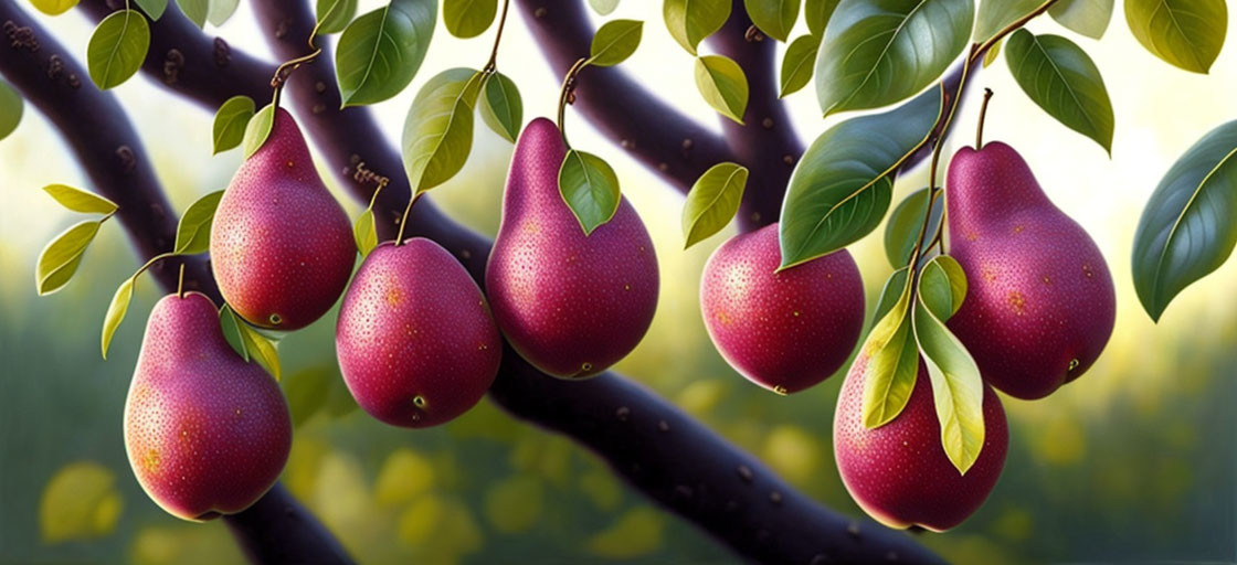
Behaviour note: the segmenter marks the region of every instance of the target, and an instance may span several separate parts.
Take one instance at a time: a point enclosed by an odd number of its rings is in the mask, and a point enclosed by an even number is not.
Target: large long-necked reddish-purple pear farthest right
[[[1082,375],[1112,335],[1103,255],[1006,143],[959,150],[948,187],[949,255],[969,282],[949,328],[988,383],[1043,398]]]

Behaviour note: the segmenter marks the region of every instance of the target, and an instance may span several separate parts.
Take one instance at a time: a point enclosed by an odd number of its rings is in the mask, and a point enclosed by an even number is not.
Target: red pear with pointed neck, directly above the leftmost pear
[[[255,325],[297,330],[335,304],[355,257],[348,214],[314,169],[292,115],[276,109],[270,137],[215,210],[210,265],[219,292]]]

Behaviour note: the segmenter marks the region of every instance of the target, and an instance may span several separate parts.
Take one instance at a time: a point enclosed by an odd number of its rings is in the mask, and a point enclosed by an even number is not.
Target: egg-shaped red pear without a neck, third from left
[[[502,360],[481,289],[438,244],[374,249],[344,294],[335,326],[344,382],[370,415],[426,428],[473,408]]]

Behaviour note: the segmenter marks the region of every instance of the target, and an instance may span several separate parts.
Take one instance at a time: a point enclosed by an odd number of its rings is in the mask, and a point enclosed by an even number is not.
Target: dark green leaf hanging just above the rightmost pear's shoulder
[[[1061,36],[1018,30],[1006,45],[1006,62],[1039,108],[1112,153],[1112,101],[1100,69],[1081,47]]]

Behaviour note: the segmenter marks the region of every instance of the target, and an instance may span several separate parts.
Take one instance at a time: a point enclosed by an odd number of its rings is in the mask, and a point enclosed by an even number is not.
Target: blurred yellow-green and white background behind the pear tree
[[[208,31],[270,58],[247,4]],[[362,0],[361,14],[379,4]],[[84,59],[92,30],[84,16],[37,17]],[[659,5],[628,0],[610,17],[647,22],[640,49],[622,67],[716,127],[717,115],[695,90],[693,59],[666,31]],[[1230,30],[1237,30],[1237,10],[1230,19]],[[518,10],[511,20],[499,68],[518,83],[526,121],[553,115],[560,77],[552,74]],[[799,27],[792,36],[805,32],[802,21]],[[1029,27],[1070,35],[1047,17]],[[413,84],[374,109],[391,140],[398,141],[421,84],[449,67],[482,66],[492,33],[456,40],[439,22]],[[970,142],[980,89],[996,90],[986,138],[1018,148],[1048,195],[1103,250],[1118,292],[1117,328],[1100,361],[1075,383],[1038,402],[1003,397],[1011,448],[995,492],[957,529],[919,539],[957,563],[1233,561],[1237,261],[1186,289],[1157,325],[1134,295],[1129,250],[1142,206],[1169,166],[1207,131],[1237,119],[1237,40],[1230,38],[1210,75],[1197,75],[1143,49],[1121,6],[1102,41],[1071,38],[1096,61],[1112,96],[1111,158],[1023,95],[1003,59],[974,83],[978,88],[956,117],[959,135],[950,148]],[[116,94],[178,210],[228,184],[241,157],[235,150],[210,155],[214,109],[174,98],[142,75]],[[787,103],[805,143],[839,120],[820,120],[810,87]],[[661,261],[653,328],[617,368],[757,454],[807,495],[861,516],[833,461],[841,377],[778,397],[747,383],[709,342],[698,308],[700,270],[734,229],[682,251],[683,198],[583,117],[569,116],[568,127],[575,145],[614,164]],[[464,172],[432,198],[492,235],[510,156],[510,143],[477,126]],[[121,410],[146,314],[161,295],[151,279],[139,282],[106,362],[99,359],[98,336],[113,292],[145,257],[134,255],[118,223],[108,223],[75,279],[38,298],[35,260],[77,221],[40,188],[90,185],[64,141],[30,105],[17,131],[0,141],[0,561],[238,561],[224,524],[192,524],[163,513],[142,493],[125,459]],[[335,188],[330,171],[323,177]],[[927,171],[907,174],[896,198],[925,184]],[[350,215],[360,211],[357,202],[336,194]],[[871,309],[892,271],[880,231],[851,252]],[[328,314],[280,347],[281,386],[297,424],[282,480],[360,563],[735,559],[616,482],[589,452],[512,420],[489,401],[430,430],[395,429],[369,418],[340,381],[330,346],[334,320]]]

